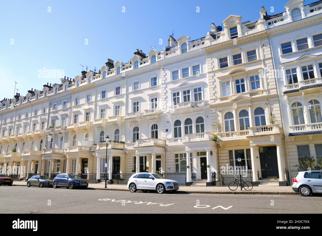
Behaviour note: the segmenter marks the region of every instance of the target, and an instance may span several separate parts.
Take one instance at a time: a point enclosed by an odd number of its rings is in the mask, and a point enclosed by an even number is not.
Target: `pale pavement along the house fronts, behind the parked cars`
[[[25,186],[27,182],[25,181],[14,181],[13,183],[16,186]],[[110,184],[107,185],[105,189],[104,183],[99,184],[89,184],[89,189],[96,190],[116,190],[116,191],[129,191],[127,185],[124,184]],[[179,193],[189,193],[189,194],[294,194],[295,193],[291,186],[254,186],[251,191],[240,190],[237,188],[236,191],[231,191],[228,186],[180,186]]]

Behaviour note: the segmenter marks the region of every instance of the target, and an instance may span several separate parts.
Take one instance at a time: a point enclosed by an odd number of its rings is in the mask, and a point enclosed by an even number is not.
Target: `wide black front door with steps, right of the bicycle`
[[[279,178],[276,146],[260,147],[262,178]]]

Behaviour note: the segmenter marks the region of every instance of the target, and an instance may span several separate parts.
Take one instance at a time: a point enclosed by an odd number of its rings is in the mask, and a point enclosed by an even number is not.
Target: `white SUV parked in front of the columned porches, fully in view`
[[[159,174],[137,173],[128,179],[128,188],[131,193],[135,193],[138,189],[144,193],[149,190],[156,190],[159,194],[163,194],[166,191],[174,193],[179,189],[179,183],[166,179]]]

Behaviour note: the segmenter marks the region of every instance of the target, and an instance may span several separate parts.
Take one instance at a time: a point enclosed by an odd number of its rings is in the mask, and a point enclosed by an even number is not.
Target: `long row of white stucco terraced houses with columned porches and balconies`
[[[306,62],[315,73],[307,81],[321,80],[321,47],[313,46],[321,33],[321,5],[292,0],[285,13],[272,16],[262,7],[260,19],[252,22],[230,15],[224,29],[212,24],[197,40],[170,36],[161,52],[136,50],[127,62],[108,59],[98,73],[82,71],[2,100],[2,173],[17,179],[87,173],[99,181],[107,172],[113,183],[124,184],[133,172],[159,171],[184,175],[187,185],[211,185],[227,184],[223,166],[242,166],[254,185],[286,185],[285,169],[293,175],[300,155],[296,142],[319,150],[321,140],[304,128],[298,131],[289,113],[294,99],[314,95],[313,103],[320,102],[318,86],[304,89],[299,79],[292,91],[286,83],[287,71],[296,65],[300,74]],[[304,51],[295,50],[301,35],[308,38]],[[284,55],[288,41],[294,50]],[[276,69],[284,70],[282,78]],[[308,114],[303,112],[301,127],[319,131],[321,114],[317,122]]]

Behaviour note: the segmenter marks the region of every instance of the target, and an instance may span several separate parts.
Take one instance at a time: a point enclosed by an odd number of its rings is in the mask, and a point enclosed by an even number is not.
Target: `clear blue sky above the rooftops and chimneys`
[[[126,63],[136,49],[161,51],[172,32],[175,38],[198,39],[230,14],[255,21],[261,6],[278,14],[286,2],[0,0],[0,99],[13,98],[14,81],[26,95],[63,76],[81,75],[81,65],[98,72],[108,58]],[[60,74],[44,73],[48,70]]]

